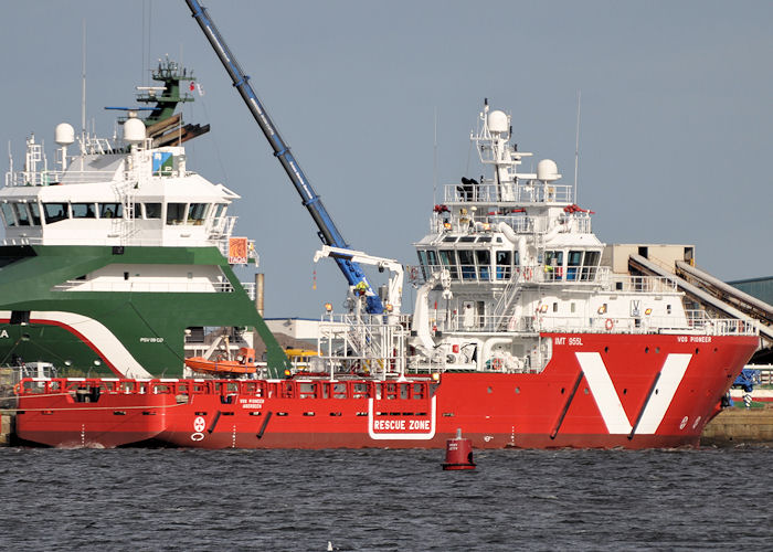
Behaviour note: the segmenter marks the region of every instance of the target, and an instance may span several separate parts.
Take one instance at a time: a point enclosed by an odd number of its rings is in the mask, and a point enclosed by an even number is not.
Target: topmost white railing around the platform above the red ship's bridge
[[[571,185],[564,184],[444,184],[444,203],[573,203]]]

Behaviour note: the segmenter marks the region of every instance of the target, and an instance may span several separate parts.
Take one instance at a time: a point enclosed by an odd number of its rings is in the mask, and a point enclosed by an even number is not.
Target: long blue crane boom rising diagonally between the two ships
[[[193,18],[199,23],[199,26],[201,26],[201,30],[204,32],[204,35],[210,41],[210,44],[212,44],[218,57],[220,57],[220,61],[223,63],[225,71],[231,76],[234,87],[241,94],[250,113],[252,113],[252,116],[261,127],[261,130],[263,130],[268,144],[271,144],[271,147],[274,149],[274,156],[279,160],[296,191],[300,194],[304,205],[308,209],[314,222],[319,229],[318,235],[322,244],[348,250],[349,245],[332,222],[332,219],[322,204],[322,200],[314,191],[311,183],[306,178],[306,174],[300,169],[295,157],[290,153],[289,146],[282,139],[278,129],[272,121],[268,113],[255,94],[255,91],[252,89],[250,77],[244,74],[239,62],[236,62],[236,59],[225,44],[225,41],[223,41],[220,31],[218,31],[218,28],[212,22],[207,9],[201,6],[198,0],[186,0],[186,2]],[[368,312],[383,312],[383,304],[373,291],[359,263],[351,258],[346,258],[345,256],[336,256],[333,258],[350,286],[357,286],[360,283],[366,285],[366,308]]]

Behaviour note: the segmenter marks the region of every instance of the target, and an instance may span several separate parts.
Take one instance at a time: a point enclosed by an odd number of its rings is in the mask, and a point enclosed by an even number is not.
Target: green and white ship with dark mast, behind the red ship
[[[159,65],[153,113],[187,99],[179,83],[192,74],[182,75]],[[0,364],[171,378],[183,374],[192,342],[213,353],[261,339],[269,373],[286,368],[254,284],[232,267],[257,263],[252,242],[232,235],[226,213],[239,195],[188,170],[181,144],[205,129],[166,112],[130,114],[123,140],[84,134],[72,156],[73,129],[59,125],[55,170],[28,139],[24,169],[0,190]]]

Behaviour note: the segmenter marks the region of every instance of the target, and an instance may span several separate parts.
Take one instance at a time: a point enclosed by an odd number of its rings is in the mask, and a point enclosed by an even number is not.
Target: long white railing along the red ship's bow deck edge
[[[717,319],[698,316],[452,316],[437,312],[438,331],[469,332],[576,332],[576,333],[686,333],[697,336],[755,336],[755,323],[738,319]]]

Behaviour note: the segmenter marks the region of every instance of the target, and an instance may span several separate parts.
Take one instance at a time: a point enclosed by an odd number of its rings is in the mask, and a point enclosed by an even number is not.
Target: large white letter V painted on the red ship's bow
[[[610,372],[606,370],[601,354],[597,352],[575,352],[574,354],[585,374],[587,386],[591,389],[596,406],[599,406],[606,431],[610,435],[629,434],[633,426],[623,408],[620,395],[612,384]],[[681,380],[685,378],[687,365],[691,359],[692,354],[668,354],[663,364],[657,386],[644,406],[642,420],[636,428],[637,434],[652,435],[657,432]]]

